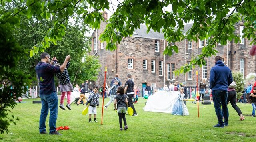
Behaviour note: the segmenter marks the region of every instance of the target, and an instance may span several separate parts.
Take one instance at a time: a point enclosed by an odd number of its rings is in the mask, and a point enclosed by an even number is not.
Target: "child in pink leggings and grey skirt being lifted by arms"
[[[61,91],[61,97],[60,97],[60,108],[65,110],[66,108],[63,105],[64,102],[64,97],[67,93],[67,99],[68,99],[68,105],[66,107],[71,110],[70,106],[70,96],[71,96],[71,91],[73,90],[73,86],[70,83],[70,78],[68,75],[68,67],[69,67],[70,61],[68,61],[66,69],[62,73],[56,73],[56,76],[59,79],[60,82],[60,91]],[[54,60],[54,66],[60,67],[60,63],[57,63],[57,60]]]

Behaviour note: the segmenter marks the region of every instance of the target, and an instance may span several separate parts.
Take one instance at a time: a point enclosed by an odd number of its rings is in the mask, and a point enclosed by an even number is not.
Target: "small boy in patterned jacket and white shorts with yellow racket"
[[[96,106],[99,107],[100,105],[100,96],[98,95],[98,89],[99,87],[97,85],[94,85],[92,87],[93,89],[93,93],[90,94],[87,102],[86,102],[86,105],[88,105],[89,103],[89,108],[88,108],[88,113],[89,113],[89,122],[92,123],[92,114],[93,114],[93,117],[94,117],[94,122],[98,122],[96,120],[96,114],[97,114],[97,109],[96,109]]]

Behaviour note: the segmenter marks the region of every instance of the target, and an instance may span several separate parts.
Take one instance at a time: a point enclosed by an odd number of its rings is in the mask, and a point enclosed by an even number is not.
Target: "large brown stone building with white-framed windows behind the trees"
[[[107,19],[107,13],[103,13]],[[185,39],[175,44],[179,47],[179,53],[173,52],[172,56],[163,55],[165,47],[169,44],[164,40],[164,34],[150,30],[146,33],[146,26],[141,25],[136,29],[131,37],[122,37],[122,41],[117,45],[116,51],[105,49],[106,43],[99,40],[100,34],[104,31],[106,22],[101,22],[100,29],[92,33],[92,51],[102,65],[96,84],[103,84],[105,66],[107,66],[106,83],[109,84],[114,74],[118,73],[122,83],[126,82],[127,73],[132,74],[135,85],[145,86],[149,83],[152,87],[164,87],[169,85],[170,80],[186,82],[187,86],[196,85],[196,71],[198,71],[198,81],[210,77],[210,69],[214,66],[214,57],[205,58],[206,65],[196,66],[186,74],[175,75],[174,70],[179,69],[184,63],[189,63],[192,56],[201,53],[208,40],[198,42]],[[184,31],[192,27],[192,24],[185,25]],[[240,35],[244,28],[243,23],[235,25],[236,34]],[[240,71],[244,77],[248,73],[256,72],[256,58],[249,55],[250,41],[241,39],[241,43],[228,41],[227,45],[217,45],[217,55],[225,61],[225,65],[232,71]],[[109,81],[108,81],[109,80]],[[208,82],[207,80],[207,82]],[[251,81],[254,82],[254,81]]]

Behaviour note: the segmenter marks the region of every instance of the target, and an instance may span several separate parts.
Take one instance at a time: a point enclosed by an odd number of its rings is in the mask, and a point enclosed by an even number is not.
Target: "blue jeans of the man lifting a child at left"
[[[40,94],[42,109],[39,120],[39,132],[46,131],[45,121],[50,108],[49,127],[50,133],[56,131],[56,120],[58,116],[58,97],[56,92],[45,95]]]

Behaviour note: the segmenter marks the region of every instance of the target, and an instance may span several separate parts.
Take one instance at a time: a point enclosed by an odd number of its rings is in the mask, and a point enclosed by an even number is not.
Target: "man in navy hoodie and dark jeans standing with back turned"
[[[233,77],[230,69],[222,62],[222,57],[215,57],[215,66],[210,72],[210,89],[212,89],[212,97],[216,115],[218,117],[218,124],[214,127],[224,128],[228,126],[228,86],[232,83]],[[223,114],[220,108],[223,108]],[[222,118],[224,117],[224,123]]]

